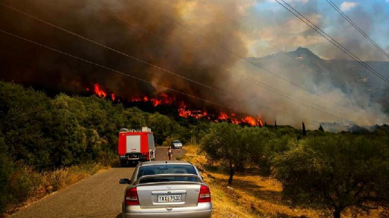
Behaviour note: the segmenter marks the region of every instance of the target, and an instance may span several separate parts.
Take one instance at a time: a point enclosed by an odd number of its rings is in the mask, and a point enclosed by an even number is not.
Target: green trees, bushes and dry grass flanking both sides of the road
[[[117,159],[121,128],[180,139],[211,185],[215,217],[387,217],[389,126],[328,133],[175,120],[96,96],[0,82],[0,214]],[[373,209],[373,210],[372,210]],[[368,213],[372,211],[372,213]]]

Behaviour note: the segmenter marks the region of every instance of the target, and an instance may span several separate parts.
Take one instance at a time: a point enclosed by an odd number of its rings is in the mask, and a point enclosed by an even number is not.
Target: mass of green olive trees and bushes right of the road
[[[234,184],[237,171],[251,171],[277,179],[290,205],[330,210],[335,218],[345,210],[366,214],[370,209],[382,209],[387,216],[388,133],[383,126],[373,133],[316,130],[300,135],[289,127],[220,123],[211,125],[201,149],[211,166],[225,170],[228,185]]]

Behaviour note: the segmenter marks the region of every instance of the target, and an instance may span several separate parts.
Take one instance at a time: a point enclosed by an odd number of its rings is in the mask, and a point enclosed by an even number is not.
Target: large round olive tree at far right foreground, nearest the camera
[[[389,149],[383,140],[353,134],[308,137],[274,159],[276,178],[294,202],[333,209],[387,203]]]

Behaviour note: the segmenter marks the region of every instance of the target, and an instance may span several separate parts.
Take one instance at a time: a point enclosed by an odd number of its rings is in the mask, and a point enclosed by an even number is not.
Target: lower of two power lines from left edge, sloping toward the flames
[[[198,100],[207,102],[207,103],[211,103],[211,104],[214,104],[214,105],[217,105],[217,106],[220,106],[220,107],[227,108],[228,110],[232,110],[232,111],[236,111],[236,112],[240,112],[240,113],[245,113],[245,112],[242,112],[242,111],[240,111],[240,110],[238,110],[238,109],[236,109],[236,108],[231,108],[231,107],[228,107],[228,106],[219,104],[219,103],[215,103],[215,102],[210,101],[210,100],[206,100],[206,99],[197,97],[197,96],[195,96],[195,95],[187,94],[187,93],[185,93],[185,92],[181,92],[181,91],[178,91],[178,90],[175,90],[175,89],[172,89],[172,88],[169,88],[169,87],[160,85],[160,84],[158,84],[158,83],[150,82],[150,81],[148,81],[148,80],[144,80],[144,79],[142,79],[142,78],[139,78],[139,77],[136,77],[136,76],[133,76],[133,75],[129,75],[129,74],[123,73],[123,72],[118,71],[118,70],[114,70],[114,69],[112,69],[112,68],[109,68],[109,67],[106,67],[106,66],[103,66],[103,65],[100,65],[100,64],[97,64],[97,63],[88,61],[88,60],[86,60],[86,59],[83,59],[83,58],[80,58],[80,57],[71,55],[71,54],[69,54],[69,53],[67,53],[67,52],[64,52],[64,51],[61,51],[61,50],[52,48],[52,47],[50,47],[50,46],[47,46],[47,45],[44,45],[44,44],[41,44],[41,43],[32,41],[32,40],[30,40],[30,39],[21,37],[21,36],[19,36],[19,35],[16,35],[16,34],[7,32],[7,31],[2,30],[2,29],[0,29],[0,32],[3,32],[3,33],[5,33],[5,34],[7,34],[7,35],[16,37],[16,38],[18,38],[18,39],[22,39],[22,40],[27,41],[27,42],[30,42],[30,43],[32,43],[32,44],[39,45],[39,46],[44,47],[44,48],[47,48],[47,49],[49,49],[49,50],[56,51],[56,52],[58,52],[58,53],[61,53],[62,55],[65,55],[65,56],[74,58],[74,59],[76,59],[76,60],[83,61],[83,62],[92,64],[92,65],[95,65],[95,66],[97,66],[97,67],[101,67],[101,68],[103,68],[103,69],[105,69],[105,70],[109,70],[109,71],[112,71],[112,72],[114,72],[114,73],[118,73],[118,74],[121,74],[121,75],[123,75],[123,76],[131,77],[131,78],[133,78],[133,79],[136,79],[136,80],[139,80],[139,81],[148,83],[148,84],[150,84],[150,85],[159,86],[159,87],[165,88],[165,89],[167,89],[167,90],[170,90],[170,91],[173,91],[173,92],[176,92],[176,93],[179,93],[179,94],[182,94],[182,95],[191,97],[191,98],[195,98],[195,99],[198,99]],[[264,105],[264,106],[265,106],[265,105]],[[265,106],[265,107],[267,107],[267,106]],[[296,120],[299,120],[299,121],[301,120],[301,118],[296,117],[296,116],[294,116],[294,115],[290,115],[290,114],[287,114],[287,113],[279,112],[279,111],[277,111],[277,110],[274,110],[274,109],[271,108],[271,107],[267,107],[267,108],[269,108],[269,109],[271,109],[272,111],[275,111],[275,112],[277,112],[277,113],[280,113],[281,115],[284,115],[284,116],[286,116],[286,117],[290,117],[290,118],[293,118],[293,119],[296,119]],[[303,120],[303,119],[302,119],[302,120]],[[312,122],[314,122],[314,123],[319,123],[319,122],[317,122],[317,121],[308,121],[308,122],[311,123],[311,124],[312,124]]]

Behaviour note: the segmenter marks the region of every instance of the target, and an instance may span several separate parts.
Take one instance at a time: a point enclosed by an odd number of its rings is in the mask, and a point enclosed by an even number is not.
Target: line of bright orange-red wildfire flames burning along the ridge
[[[120,98],[118,98],[113,92],[109,92],[109,95],[107,94],[107,91],[105,91],[99,84],[93,84],[93,92],[95,95],[99,97],[107,97],[109,96],[112,101],[120,101]],[[89,88],[86,88],[87,91],[89,91]],[[149,96],[143,96],[143,97],[131,97],[130,99],[132,102],[150,102],[154,107],[159,105],[172,105],[174,102],[176,102],[175,97],[171,97],[167,95],[166,93],[161,93],[159,96],[156,97],[149,97]],[[206,111],[202,110],[189,110],[186,108],[186,104],[184,101],[180,101],[178,103],[178,115],[183,118],[195,118],[195,119],[208,119],[213,120],[215,122],[219,121],[230,121],[233,124],[246,124],[250,126],[263,126],[261,117],[250,117],[246,116],[243,118],[239,118],[240,116],[237,116],[236,114],[230,114],[228,116],[225,112],[220,112],[219,116],[214,116],[209,114]]]

